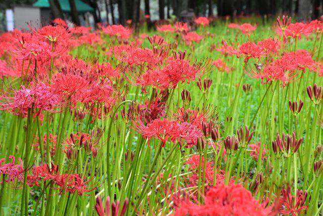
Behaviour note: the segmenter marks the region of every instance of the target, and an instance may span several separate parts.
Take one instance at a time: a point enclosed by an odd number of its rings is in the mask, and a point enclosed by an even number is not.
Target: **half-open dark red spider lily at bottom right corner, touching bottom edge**
[[[292,215],[298,216],[301,214],[303,210],[307,210],[307,206],[304,206],[306,198],[307,198],[307,191],[297,190],[296,197],[292,196],[291,188],[282,189],[281,191],[281,208],[279,208],[278,212],[283,215]],[[294,202],[296,200],[296,202]],[[295,204],[294,204],[295,203]]]

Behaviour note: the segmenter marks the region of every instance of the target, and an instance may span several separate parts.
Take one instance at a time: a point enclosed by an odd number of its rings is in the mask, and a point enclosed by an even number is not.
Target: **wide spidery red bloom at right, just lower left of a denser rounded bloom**
[[[264,85],[268,82],[279,80],[282,82],[282,86],[285,87],[286,83],[294,82],[295,77],[298,75],[294,71],[286,71],[278,62],[267,65],[262,71],[261,70],[249,70],[247,73],[251,78],[261,79],[261,83]]]

